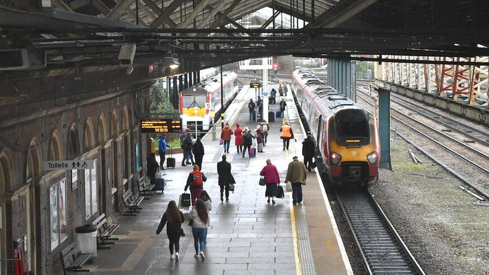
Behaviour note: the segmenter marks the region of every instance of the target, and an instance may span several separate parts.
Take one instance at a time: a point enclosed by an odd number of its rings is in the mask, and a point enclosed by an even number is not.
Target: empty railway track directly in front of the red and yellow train
[[[368,190],[336,192],[369,274],[424,274]]]

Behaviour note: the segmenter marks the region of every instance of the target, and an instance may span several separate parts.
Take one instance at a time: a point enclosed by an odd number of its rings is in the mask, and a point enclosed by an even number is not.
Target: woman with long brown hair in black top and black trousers
[[[178,251],[180,250],[180,235],[182,233],[182,222],[185,221],[183,213],[178,210],[174,200],[170,200],[166,211],[161,218],[156,234],[158,235],[166,224],[166,235],[170,241],[170,259],[179,260]],[[175,247],[175,254],[173,254],[173,247]]]

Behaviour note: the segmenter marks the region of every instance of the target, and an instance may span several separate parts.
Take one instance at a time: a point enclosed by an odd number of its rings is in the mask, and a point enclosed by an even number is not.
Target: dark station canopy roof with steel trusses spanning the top
[[[265,24],[248,26],[243,18],[264,8]],[[121,45],[133,44],[135,66],[171,53],[183,71],[289,54],[489,56],[479,47],[489,44],[488,10],[484,0],[0,0],[0,47],[68,67],[118,64]]]

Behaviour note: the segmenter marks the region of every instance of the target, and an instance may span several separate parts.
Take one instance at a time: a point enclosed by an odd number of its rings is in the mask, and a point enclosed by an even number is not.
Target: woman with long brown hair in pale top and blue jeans
[[[192,234],[193,245],[195,246],[194,257],[200,257],[201,260],[205,259],[205,238],[207,236],[207,228],[210,226],[210,217],[205,202],[198,199],[195,207],[188,213],[192,219]]]

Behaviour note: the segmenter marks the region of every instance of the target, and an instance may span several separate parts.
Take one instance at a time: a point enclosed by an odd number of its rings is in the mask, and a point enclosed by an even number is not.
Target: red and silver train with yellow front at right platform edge
[[[292,73],[292,90],[330,182],[335,186],[375,182],[380,160],[375,116],[305,69]]]

